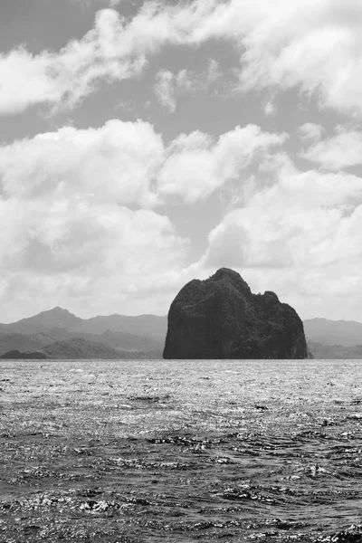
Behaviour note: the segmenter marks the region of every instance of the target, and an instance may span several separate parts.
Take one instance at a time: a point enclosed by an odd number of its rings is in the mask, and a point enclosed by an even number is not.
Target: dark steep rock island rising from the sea
[[[164,358],[308,358],[303,323],[274,292],[252,294],[222,268],[179,291],[168,312]]]

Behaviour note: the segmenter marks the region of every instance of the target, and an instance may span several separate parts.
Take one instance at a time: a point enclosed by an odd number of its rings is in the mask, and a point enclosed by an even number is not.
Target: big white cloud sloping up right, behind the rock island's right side
[[[254,185],[225,214],[195,271],[237,269],[253,291],[276,291],[303,318],[361,319],[361,178],[300,172],[282,156],[269,166],[272,183]]]

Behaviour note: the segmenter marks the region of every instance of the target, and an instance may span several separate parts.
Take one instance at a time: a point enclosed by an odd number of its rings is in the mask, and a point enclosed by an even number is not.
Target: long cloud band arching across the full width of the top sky
[[[102,81],[138,75],[167,44],[195,46],[214,38],[240,52],[242,90],[299,86],[316,93],[323,106],[360,112],[361,28],[358,0],[147,2],[130,20],[104,9],[89,33],[59,52],[2,54],[0,112],[42,102],[72,107]]]

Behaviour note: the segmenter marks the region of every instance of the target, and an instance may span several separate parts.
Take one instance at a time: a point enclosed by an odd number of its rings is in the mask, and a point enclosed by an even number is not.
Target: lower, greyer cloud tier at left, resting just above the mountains
[[[182,267],[188,244],[167,216],[70,199],[1,201],[0,208],[6,319],[55,305],[87,316],[132,313],[139,300],[143,311],[157,311],[160,300],[166,310],[167,281]]]

